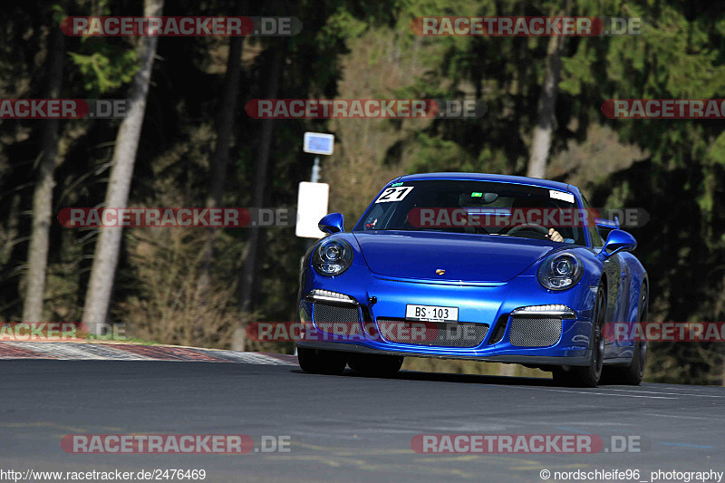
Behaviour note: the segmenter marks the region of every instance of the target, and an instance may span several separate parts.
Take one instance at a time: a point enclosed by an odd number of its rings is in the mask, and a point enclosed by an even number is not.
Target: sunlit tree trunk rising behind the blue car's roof
[[[566,9],[569,10],[568,8]],[[546,177],[546,159],[551,149],[556,123],[556,93],[559,90],[559,74],[561,72],[561,55],[564,51],[563,36],[553,36],[546,49],[546,73],[544,89],[538,99],[534,140],[531,143],[531,154],[528,159],[527,176],[531,178]]]

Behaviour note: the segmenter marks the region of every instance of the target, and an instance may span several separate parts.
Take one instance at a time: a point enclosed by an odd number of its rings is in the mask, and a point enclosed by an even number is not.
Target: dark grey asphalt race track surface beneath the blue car
[[[719,387],[581,390],[423,372],[324,376],[292,363],[11,359],[0,361],[0,469],[206,469],[205,481],[224,482],[536,482],[542,469],[552,471],[549,481],[554,471],[639,469],[641,478],[620,480],[649,482],[657,469],[725,470],[723,408]],[[60,446],[67,434],[110,433],[289,435],[292,444],[288,453],[244,455],[68,454]],[[642,450],[413,452],[411,438],[429,433],[634,435]]]

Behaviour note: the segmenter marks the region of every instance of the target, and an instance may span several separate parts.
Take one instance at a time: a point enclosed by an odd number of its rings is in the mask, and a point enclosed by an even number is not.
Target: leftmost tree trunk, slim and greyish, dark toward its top
[[[48,99],[59,99],[63,88],[63,60],[65,35],[60,26],[53,25],[48,34]],[[53,171],[58,156],[57,119],[43,121],[38,179],[33,193],[33,227],[28,247],[28,275],[23,304],[24,322],[43,320],[45,273],[48,267],[51,219],[53,217]]]

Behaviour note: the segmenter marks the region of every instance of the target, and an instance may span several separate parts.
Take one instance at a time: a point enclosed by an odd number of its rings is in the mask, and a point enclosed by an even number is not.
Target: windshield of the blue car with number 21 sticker
[[[511,183],[430,179],[393,183],[354,231],[409,230],[552,239],[586,245],[571,193]]]

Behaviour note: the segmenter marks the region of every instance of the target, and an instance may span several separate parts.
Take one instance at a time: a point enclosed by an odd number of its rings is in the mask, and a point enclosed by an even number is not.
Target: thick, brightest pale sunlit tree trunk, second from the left
[[[144,15],[158,16],[163,9],[163,0],[144,0]],[[156,54],[158,37],[141,37],[139,43],[140,70],[131,82],[129,93],[131,114],[121,122],[111,160],[111,179],[106,191],[105,207],[123,208],[129,199],[133,163],[139,148],[141,126],[143,125],[146,97],[149,93],[151,67]],[[107,322],[113,278],[118,265],[121,247],[121,227],[101,227],[91,270],[88,294],[83,307],[82,322],[89,330],[98,331]]]

